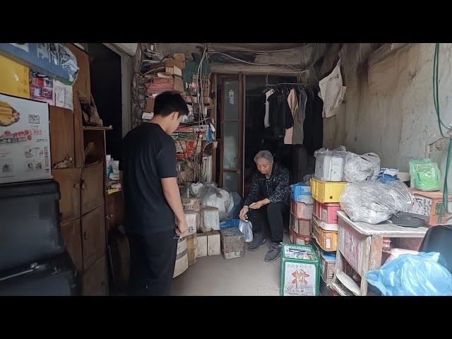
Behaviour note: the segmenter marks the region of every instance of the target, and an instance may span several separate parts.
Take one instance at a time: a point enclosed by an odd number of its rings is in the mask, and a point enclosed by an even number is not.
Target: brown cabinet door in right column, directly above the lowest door
[[[93,263],[105,256],[105,212],[100,206],[82,217],[83,268],[88,270]]]

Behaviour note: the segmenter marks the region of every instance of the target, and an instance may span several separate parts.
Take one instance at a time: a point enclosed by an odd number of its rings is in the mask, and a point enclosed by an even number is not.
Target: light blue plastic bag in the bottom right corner
[[[366,273],[369,284],[385,296],[452,295],[452,275],[438,252],[402,254]]]

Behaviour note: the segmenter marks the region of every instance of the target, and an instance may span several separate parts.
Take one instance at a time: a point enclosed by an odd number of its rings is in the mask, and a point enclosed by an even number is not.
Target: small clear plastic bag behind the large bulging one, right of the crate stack
[[[345,182],[376,180],[380,172],[380,157],[375,153],[357,155],[348,153],[345,157],[343,179]]]

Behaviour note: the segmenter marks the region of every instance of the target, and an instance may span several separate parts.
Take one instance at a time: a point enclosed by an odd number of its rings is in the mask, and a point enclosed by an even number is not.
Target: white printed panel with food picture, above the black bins
[[[0,93],[0,184],[52,179],[49,105]]]

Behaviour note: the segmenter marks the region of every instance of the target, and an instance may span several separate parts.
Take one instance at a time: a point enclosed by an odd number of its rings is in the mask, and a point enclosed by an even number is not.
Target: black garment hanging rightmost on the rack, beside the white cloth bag
[[[306,102],[306,116],[303,123],[304,145],[309,154],[323,145],[323,101],[313,91],[309,91]]]

